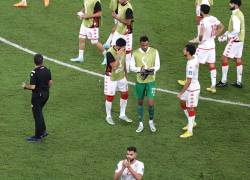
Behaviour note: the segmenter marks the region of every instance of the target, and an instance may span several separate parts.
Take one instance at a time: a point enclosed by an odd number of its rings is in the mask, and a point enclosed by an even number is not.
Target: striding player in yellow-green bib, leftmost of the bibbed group
[[[100,0],[84,0],[84,8],[77,15],[83,19],[79,32],[79,55],[70,61],[83,63],[86,38],[90,39],[91,44],[96,46],[105,56],[106,50],[99,42],[99,26],[102,16]]]

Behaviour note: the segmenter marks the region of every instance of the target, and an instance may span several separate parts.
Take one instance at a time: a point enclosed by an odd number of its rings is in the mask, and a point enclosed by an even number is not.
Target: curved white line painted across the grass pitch
[[[13,42],[10,42],[8,41],[7,39],[4,39],[2,37],[0,37],[0,41],[5,43],[5,44],[8,44],[10,46],[13,46],[21,51],[24,51],[24,52],[27,52],[29,54],[32,54],[32,55],[35,55],[37,54],[36,52],[32,51],[32,50],[29,50],[27,48],[24,48],[18,44],[15,44]],[[50,58],[50,57],[47,57],[47,56],[44,56],[44,59],[48,60],[48,61],[51,61],[51,62],[54,62],[56,64],[59,64],[59,65],[62,65],[64,67],[68,67],[68,68],[71,68],[71,69],[74,69],[74,70],[77,70],[77,71],[80,71],[80,72],[84,72],[84,73],[87,73],[87,74],[90,74],[90,75],[93,75],[93,76],[98,76],[98,77],[104,77],[103,74],[99,74],[99,73],[96,73],[96,72],[93,72],[93,71],[89,71],[87,69],[84,69],[84,68],[80,68],[78,66],[74,66],[74,65],[71,65],[71,64],[68,64],[68,63],[64,63],[62,61],[59,61],[59,60],[56,60],[56,59],[53,59],[53,58]],[[128,82],[130,85],[135,85],[134,82]],[[161,89],[161,88],[157,88],[156,89],[157,91],[159,92],[164,92],[164,93],[168,93],[168,94],[174,94],[176,95],[177,92],[175,91],[171,91],[171,90],[167,90],[167,89]],[[205,101],[210,101],[210,102],[216,102],[216,103],[221,103],[221,104],[229,104],[229,105],[236,105],[236,106],[242,106],[242,107],[248,107],[250,108],[250,104],[245,104],[245,103],[241,103],[241,102],[233,102],[233,101],[228,101],[228,100],[220,100],[220,99],[213,99],[213,98],[207,98],[207,97],[202,97],[200,96],[200,99],[201,100],[205,100]]]

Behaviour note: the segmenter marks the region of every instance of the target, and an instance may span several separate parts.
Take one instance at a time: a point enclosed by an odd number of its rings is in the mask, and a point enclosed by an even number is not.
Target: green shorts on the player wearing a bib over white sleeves
[[[154,99],[155,97],[155,81],[149,83],[138,83],[135,84],[135,94],[137,99],[143,99],[147,96],[149,99]]]

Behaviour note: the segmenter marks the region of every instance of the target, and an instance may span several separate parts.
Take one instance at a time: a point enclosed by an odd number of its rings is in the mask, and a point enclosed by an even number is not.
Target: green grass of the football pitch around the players
[[[78,54],[80,21],[75,12],[81,1],[53,1],[48,9],[42,1],[28,1],[27,9],[12,7],[16,1],[0,1],[0,36],[31,50],[67,63]],[[153,3],[153,4],[152,4]],[[246,17],[244,49],[245,87],[218,89],[211,95],[205,91],[210,85],[207,67],[200,69],[202,96],[249,103],[249,39],[250,8],[243,2]],[[169,7],[171,4],[171,7]],[[147,34],[151,45],[161,56],[157,86],[179,90],[176,80],[184,77],[185,61],[182,48],[195,35],[193,2],[133,1],[135,9],[134,48],[141,34]],[[159,7],[164,7],[160,8]],[[101,42],[111,30],[112,19],[108,2],[103,1],[104,25]],[[227,1],[216,1],[212,14],[226,26],[230,17]],[[218,44],[217,65],[220,78],[220,56],[225,44]],[[102,55],[88,43],[86,62],[81,67],[102,73]],[[151,134],[147,126],[147,112],[142,134],[136,134],[136,100],[130,86],[127,114],[132,125],[117,120],[119,97],[113,105],[116,126],[104,122],[103,80],[46,62],[52,70],[54,87],[45,108],[50,133],[40,144],[25,142],[34,129],[30,108],[30,93],[20,84],[33,68],[32,56],[0,44],[1,88],[0,101],[0,179],[111,179],[116,163],[124,158],[126,147],[138,148],[138,159],[145,163],[144,179],[249,179],[249,108],[200,101],[194,137],[179,139],[186,124],[183,112],[174,95],[158,93],[156,125]],[[235,79],[235,66],[230,63],[229,81]],[[135,79],[131,74],[130,80]],[[101,82],[99,82],[101,80]]]

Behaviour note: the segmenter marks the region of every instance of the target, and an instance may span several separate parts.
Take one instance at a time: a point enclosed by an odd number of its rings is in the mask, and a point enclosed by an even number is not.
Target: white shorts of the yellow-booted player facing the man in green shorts
[[[191,108],[191,107],[197,107],[198,101],[199,101],[199,96],[200,96],[200,90],[186,90],[182,96],[181,100],[186,101],[186,106]]]

